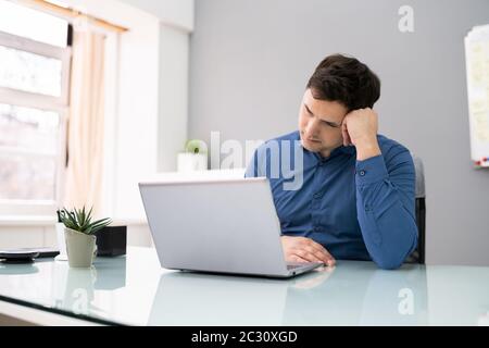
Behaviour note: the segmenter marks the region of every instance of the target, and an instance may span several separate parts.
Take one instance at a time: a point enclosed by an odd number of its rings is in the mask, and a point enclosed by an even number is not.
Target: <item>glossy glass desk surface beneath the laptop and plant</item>
[[[271,279],[168,271],[130,247],[91,270],[0,263],[0,300],[128,325],[489,325],[489,268],[338,261]]]

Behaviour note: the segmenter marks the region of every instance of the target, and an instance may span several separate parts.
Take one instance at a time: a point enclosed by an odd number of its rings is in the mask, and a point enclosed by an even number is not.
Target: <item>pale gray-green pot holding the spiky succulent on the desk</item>
[[[91,268],[97,253],[97,237],[65,227],[64,238],[70,266]]]

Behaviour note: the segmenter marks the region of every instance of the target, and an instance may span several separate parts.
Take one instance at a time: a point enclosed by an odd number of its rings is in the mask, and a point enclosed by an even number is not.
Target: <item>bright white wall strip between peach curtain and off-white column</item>
[[[151,18],[121,38],[116,113],[115,189],[112,216],[143,216],[138,191],[141,176],[158,166],[159,23]],[[111,156],[111,154],[106,154]]]

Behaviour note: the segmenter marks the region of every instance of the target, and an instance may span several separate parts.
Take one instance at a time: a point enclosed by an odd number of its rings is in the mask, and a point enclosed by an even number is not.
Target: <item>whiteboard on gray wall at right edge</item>
[[[465,37],[471,158],[489,167],[489,25],[475,26]]]

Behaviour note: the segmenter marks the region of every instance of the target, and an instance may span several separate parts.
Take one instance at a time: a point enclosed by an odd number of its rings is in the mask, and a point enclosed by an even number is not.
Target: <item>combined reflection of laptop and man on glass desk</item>
[[[293,279],[164,273],[149,325],[426,324],[426,273],[339,263]]]

